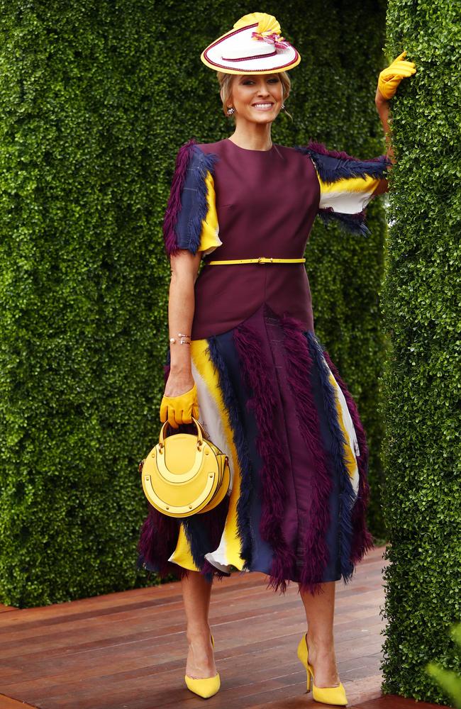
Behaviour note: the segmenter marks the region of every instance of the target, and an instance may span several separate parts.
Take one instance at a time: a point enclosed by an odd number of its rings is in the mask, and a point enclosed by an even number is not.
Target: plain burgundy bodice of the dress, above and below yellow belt
[[[320,200],[311,160],[292,147],[246,150],[227,138],[198,147],[218,155],[213,179],[223,243],[205,257],[196,279],[192,339],[234,328],[264,302],[313,331],[303,263],[206,265],[259,256],[302,258]]]

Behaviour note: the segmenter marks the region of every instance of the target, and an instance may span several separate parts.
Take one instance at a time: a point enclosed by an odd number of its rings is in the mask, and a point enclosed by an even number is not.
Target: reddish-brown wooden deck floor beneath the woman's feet
[[[426,709],[381,696],[382,554],[374,549],[337,584],[335,647],[349,707]],[[305,629],[297,586],[266,590],[262,574],[217,581],[211,601],[221,691],[211,709],[319,707],[296,658]],[[0,606],[0,709],[195,709],[184,685],[187,640],[179,583],[72,603]]]

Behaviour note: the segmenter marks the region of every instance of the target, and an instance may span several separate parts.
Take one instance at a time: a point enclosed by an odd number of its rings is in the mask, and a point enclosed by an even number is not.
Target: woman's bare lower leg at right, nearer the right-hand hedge
[[[322,591],[316,595],[301,592],[307,618],[308,659],[316,686],[334,687],[340,682],[333,638],[335,581],[322,584]]]

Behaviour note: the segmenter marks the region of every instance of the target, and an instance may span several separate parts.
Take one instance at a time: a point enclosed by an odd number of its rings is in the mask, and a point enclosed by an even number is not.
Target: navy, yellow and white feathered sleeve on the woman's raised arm
[[[379,182],[387,177],[387,157],[359,160],[313,141],[307,146],[296,145],[296,150],[309,155],[316,169],[320,184],[318,216],[323,222],[335,220],[351,233],[370,233],[365,224],[365,207]]]

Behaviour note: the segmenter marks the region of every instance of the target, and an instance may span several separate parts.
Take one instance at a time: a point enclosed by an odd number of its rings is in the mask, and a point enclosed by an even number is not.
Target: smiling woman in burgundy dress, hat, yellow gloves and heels
[[[388,100],[415,71],[403,57],[379,77],[386,133]],[[190,140],[177,156],[164,224],[172,279],[160,418],[173,428],[199,418],[229,454],[232,488],[217,508],[184,520],[150,510],[140,563],[182,577],[191,691],[208,697],[219,689],[211,581],[235,566],[265,572],[274,590],[299,584],[308,691],[312,675],[314,699],[344,705],[335,581],[348,581],[372,547],[367,445],[355,403],[314,333],[302,257],[317,214],[367,233],[364,208],[387,190],[391,149],[363,161],[315,143],[272,143],[289,95],[286,72],[300,61],[273,16],[245,15],[201,59],[218,71],[235,131],[216,143]]]

